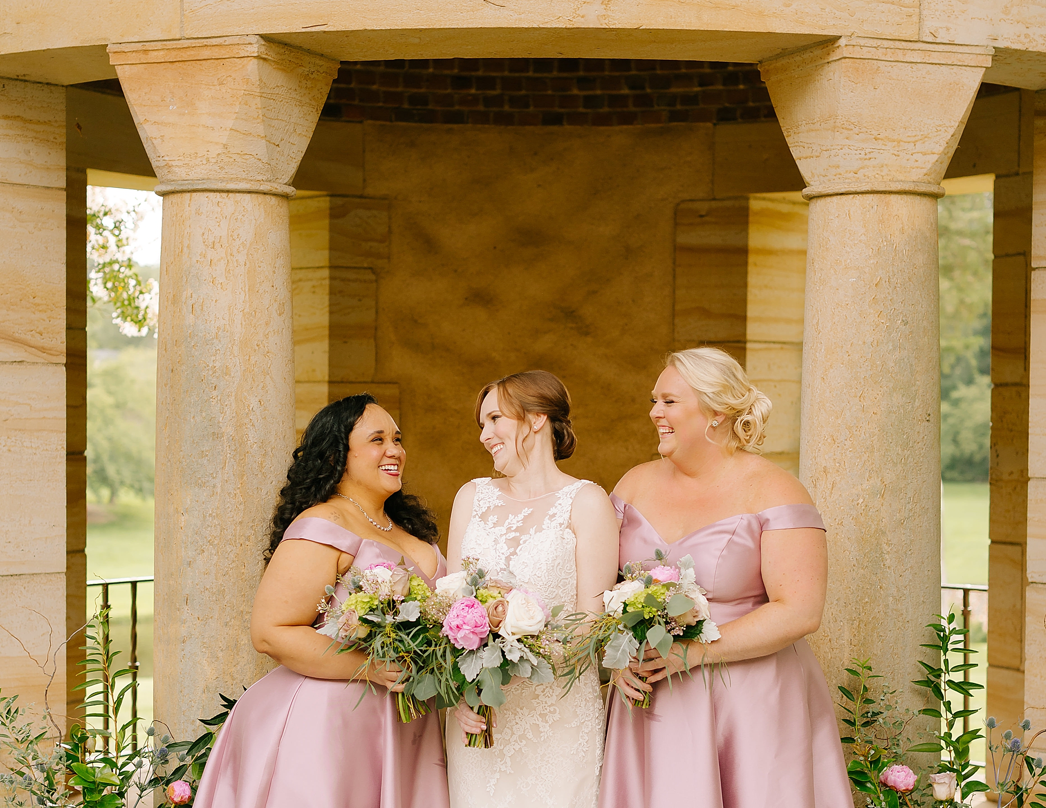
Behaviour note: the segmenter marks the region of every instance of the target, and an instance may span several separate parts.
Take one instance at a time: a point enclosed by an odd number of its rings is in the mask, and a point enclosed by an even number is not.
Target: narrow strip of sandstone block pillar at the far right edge
[[[1036,93],[1028,343],[1028,536],[1024,596],[1024,717],[1046,726],[1046,92]],[[1046,754],[1046,736],[1039,738]]]

